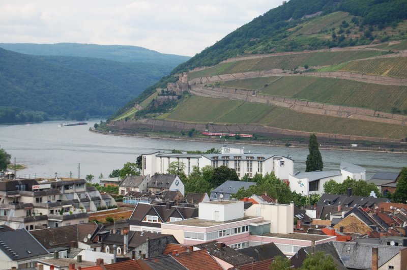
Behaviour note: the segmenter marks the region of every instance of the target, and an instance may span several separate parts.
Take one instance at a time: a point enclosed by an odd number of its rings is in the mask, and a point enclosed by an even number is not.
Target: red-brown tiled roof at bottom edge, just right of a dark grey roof
[[[188,269],[194,270],[209,270],[209,269],[219,269],[223,268],[217,263],[217,261],[209,255],[206,250],[197,250],[194,252],[182,253],[178,256],[172,256],[179,263],[184,265]]]

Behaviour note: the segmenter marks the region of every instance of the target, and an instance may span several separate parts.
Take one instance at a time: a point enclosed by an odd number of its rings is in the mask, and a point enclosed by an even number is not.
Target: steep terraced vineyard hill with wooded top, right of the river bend
[[[405,19],[405,1],[291,0],[172,70],[188,70],[189,94],[163,110],[155,88],[173,80],[166,77],[114,119],[126,115],[125,130],[183,131],[188,123],[267,138],[398,143],[407,138]],[[131,110],[135,103],[143,109]]]

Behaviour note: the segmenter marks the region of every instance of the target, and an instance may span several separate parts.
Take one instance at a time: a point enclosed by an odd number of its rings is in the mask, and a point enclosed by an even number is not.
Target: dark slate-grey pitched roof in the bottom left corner
[[[0,249],[13,261],[49,254],[25,229],[0,232]]]

